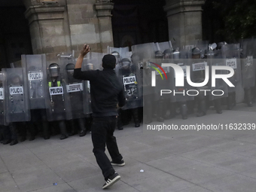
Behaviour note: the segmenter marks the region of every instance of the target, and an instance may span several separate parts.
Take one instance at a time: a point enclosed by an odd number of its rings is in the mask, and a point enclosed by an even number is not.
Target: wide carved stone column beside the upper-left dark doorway
[[[34,5],[26,10],[34,54],[67,52],[65,10],[64,5]]]

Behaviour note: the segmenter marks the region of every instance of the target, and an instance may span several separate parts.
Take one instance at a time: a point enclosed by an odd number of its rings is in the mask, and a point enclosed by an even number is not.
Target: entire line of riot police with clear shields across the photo
[[[221,114],[222,105],[227,105],[228,109],[236,105],[239,86],[244,89],[245,102],[252,106],[254,46],[253,39],[244,39],[240,44],[197,41],[183,47],[172,47],[171,41],[136,44],[131,52],[128,47],[108,47],[108,53],[116,56],[114,70],[126,96],[126,105],[119,109],[117,129],[122,130],[132,118],[136,127],[140,126],[142,117],[144,123],[163,122],[179,114],[182,119],[187,119],[196,108],[197,116],[201,117],[211,105]],[[101,70],[104,55],[90,52],[84,59],[82,70]],[[21,68],[2,69],[0,74],[2,142],[17,144],[18,133],[20,141],[24,141],[26,130],[29,140],[35,139],[38,130],[44,139],[56,134],[56,130],[60,132],[60,139],[78,131],[79,136],[84,136],[92,121],[90,82],[73,78],[74,56],[69,53],[23,55],[21,63]],[[183,69],[184,86],[175,86],[178,76],[164,63],[174,63]],[[209,66],[210,77],[209,82],[203,84],[206,66]],[[212,66],[230,66],[234,75],[229,81],[235,87],[227,86],[221,78],[216,79],[215,87],[212,87]],[[217,70],[216,74],[225,75],[227,70]],[[187,84],[187,79],[203,86],[192,87]],[[161,90],[178,94],[160,95]],[[218,90],[223,94],[210,94]],[[184,94],[188,92],[190,94]]]

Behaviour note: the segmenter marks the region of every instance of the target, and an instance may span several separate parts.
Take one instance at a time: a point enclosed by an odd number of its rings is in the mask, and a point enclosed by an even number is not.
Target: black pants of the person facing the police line
[[[114,174],[114,169],[111,166],[105,154],[105,145],[107,145],[108,152],[113,161],[120,161],[123,159],[117,147],[117,140],[114,137],[114,128],[117,122],[116,116],[110,117],[93,117],[92,126],[92,140],[93,140],[93,153],[96,161],[102,169],[102,174],[105,180],[108,176]]]

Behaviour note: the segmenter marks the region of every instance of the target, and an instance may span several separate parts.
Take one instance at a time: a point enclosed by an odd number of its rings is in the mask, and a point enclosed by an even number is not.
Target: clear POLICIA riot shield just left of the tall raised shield
[[[22,68],[2,69],[5,77],[6,121],[21,122],[30,120],[29,95],[27,90],[27,76]]]

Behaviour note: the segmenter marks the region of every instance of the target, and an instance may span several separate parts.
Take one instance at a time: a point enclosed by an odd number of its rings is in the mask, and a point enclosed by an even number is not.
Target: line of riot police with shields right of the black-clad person
[[[229,110],[236,105],[236,93],[240,92],[241,87],[244,89],[245,103],[252,106],[255,44],[254,39],[243,39],[240,44],[221,42],[218,45],[197,41],[181,48],[174,48],[172,43],[167,41],[133,45],[132,53],[128,52],[128,47],[108,47],[108,53],[114,54],[117,58],[115,70],[126,91],[126,101],[130,103],[122,109],[120,119],[127,116],[127,109],[132,108],[133,119],[138,125],[140,119],[136,111],[142,106],[144,123],[151,123],[153,120],[163,122],[179,114],[182,119],[187,119],[195,109],[197,117],[202,117],[206,115],[210,106],[221,114],[223,105],[227,105]],[[184,86],[175,86],[178,81],[175,77],[177,74],[163,63],[175,63],[183,69]],[[190,67],[189,72],[186,71],[187,66]],[[206,66],[209,66],[209,81],[204,84]],[[228,86],[222,78],[215,79],[215,86],[212,87],[213,66],[232,68],[234,75],[228,80],[234,87]],[[215,71],[219,76],[229,73],[226,69]],[[192,87],[187,84],[188,79],[203,86]],[[130,88],[127,88],[127,85],[130,85]],[[161,95],[161,90],[172,90],[172,93],[177,94]],[[188,92],[190,94],[185,94]],[[122,129],[120,125],[118,127]]]

